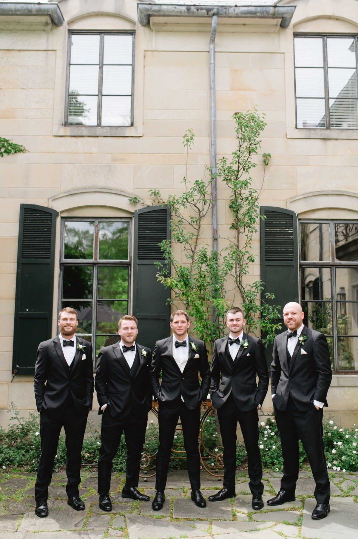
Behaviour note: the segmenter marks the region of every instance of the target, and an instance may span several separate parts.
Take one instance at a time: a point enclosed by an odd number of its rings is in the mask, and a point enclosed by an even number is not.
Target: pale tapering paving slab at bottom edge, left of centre
[[[161,539],[162,537],[210,537],[205,531],[191,528],[184,522],[168,522],[142,515],[127,515],[130,539]],[[277,538],[276,538],[277,539]]]

